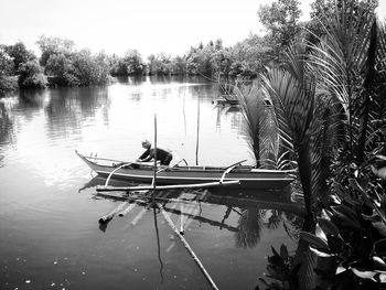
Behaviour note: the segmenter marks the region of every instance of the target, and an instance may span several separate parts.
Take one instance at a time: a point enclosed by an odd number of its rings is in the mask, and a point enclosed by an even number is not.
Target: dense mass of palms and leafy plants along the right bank
[[[255,98],[272,104],[308,212],[294,257],[274,250],[267,269],[280,283],[261,279],[269,289],[385,288],[386,30],[376,4],[317,1],[313,33],[293,37],[261,75]]]

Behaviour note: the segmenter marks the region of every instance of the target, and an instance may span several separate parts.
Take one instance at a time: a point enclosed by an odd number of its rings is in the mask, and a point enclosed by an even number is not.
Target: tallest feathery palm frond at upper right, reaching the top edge
[[[340,1],[333,17],[323,15],[325,33],[318,46],[312,46],[310,69],[318,88],[329,92],[340,101],[346,118],[349,146],[358,160],[367,133],[369,95],[363,89],[374,79],[376,24],[374,11],[356,1]]]

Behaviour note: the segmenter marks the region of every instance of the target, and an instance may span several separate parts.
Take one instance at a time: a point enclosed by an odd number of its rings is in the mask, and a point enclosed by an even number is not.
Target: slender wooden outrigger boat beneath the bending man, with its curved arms
[[[85,157],[77,151],[76,154],[98,175],[107,178],[106,186],[110,178],[152,183],[154,168],[150,162],[125,162],[97,157]],[[178,187],[214,187],[230,186],[233,189],[255,189],[255,190],[282,190],[290,184],[296,175],[294,170],[264,170],[248,165],[242,165],[246,161],[239,161],[229,167],[158,167],[157,184],[158,189]],[[152,186],[127,186],[115,187],[114,190],[151,190]],[[97,189],[98,190],[98,189]]]

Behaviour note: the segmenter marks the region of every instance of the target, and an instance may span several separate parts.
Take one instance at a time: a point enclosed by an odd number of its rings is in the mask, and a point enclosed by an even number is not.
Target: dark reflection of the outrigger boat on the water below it
[[[106,179],[96,176],[87,182],[79,192],[105,185]],[[128,185],[127,182],[119,180],[110,180],[112,186]],[[138,183],[130,183],[129,185],[142,185]],[[149,206],[152,200],[152,191],[135,191],[131,193],[120,192],[97,192],[94,198],[111,198],[114,201],[128,201],[129,203],[136,203],[139,206]],[[227,228],[230,232],[249,232],[253,234],[259,227],[261,223],[265,223],[270,228],[278,227],[281,221],[282,213],[289,213],[299,217],[303,216],[304,208],[299,203],[291,201],[290,189],[286,187],[281,192],[278,191],[258,191],[258,194],[254,190],[234,190],[234,189],[205,189],[205,190],[163,190],[156,193],[156,201],[162,203],[164,208],[175,215],[184,215],[187,218],[193,218],[203,223],[208,223],[219,228]],[[174,206],[175,204],[184,204],[184,211],[181,211]],[[196,215],[192,214],[194,208],[189,205],[199,205],[201,211]],[[212,221],[203,216],[203,205],[217,205],[225,206],[226,211],[222,221]],[[125,208],[121,208],[125,211]],[[227,226],[225,221],[235,213],[239,216],[237,227]],[[265,221],[265,222],[262,222]],[[249,230],[250,229],[250,230]],[[243,233],[239,233],[243,235]],[[253,236],[258,237],[257,234]],[[240,236],[237,236],[239,239]],[[243,246],[243,241],[237,243]],[[243,246],[244,247],[244,246]]]

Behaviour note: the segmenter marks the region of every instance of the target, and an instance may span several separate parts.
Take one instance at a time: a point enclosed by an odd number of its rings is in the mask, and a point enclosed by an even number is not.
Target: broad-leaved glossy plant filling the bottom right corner
[[[386,165],[374,170],[378,178],[386,178],[380,174]],[[386,288],[386,196],[373,197],[376,184],[369,180],[349,182],[346,187],[334,183],[334,204],[318,218],[315,234],[302,232],[301,238],[315,256],[328,260],[329,268],[317,272],[332,288]]]

